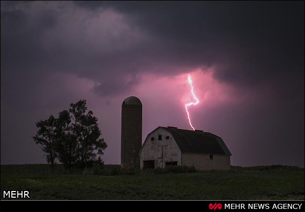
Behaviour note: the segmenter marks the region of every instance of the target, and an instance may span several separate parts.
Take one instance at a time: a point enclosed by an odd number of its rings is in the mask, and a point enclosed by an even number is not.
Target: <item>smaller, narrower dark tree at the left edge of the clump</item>
[[[39,144],[42,150],[47,153],[47,162],[51,163],[51,171],[54,171],[54,161],[57,157],[56,152],[56,118],[51,115],[49,119],[36,122],[37,134],[33,136],[36,144]]]

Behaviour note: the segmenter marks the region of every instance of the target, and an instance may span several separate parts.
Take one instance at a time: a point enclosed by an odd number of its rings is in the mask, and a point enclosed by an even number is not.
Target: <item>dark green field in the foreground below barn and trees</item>
[[[304,168],[296,166],[90,171],[65,174],[57,165],[50,174],[48,164],[1,165],[1,200],[4,190],[28,190],[30,200],[304,200]]]

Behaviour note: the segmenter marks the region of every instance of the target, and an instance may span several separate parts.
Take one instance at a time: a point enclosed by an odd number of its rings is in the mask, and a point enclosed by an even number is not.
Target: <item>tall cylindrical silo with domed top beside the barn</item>
[[[142,146],[142,103],[130,96],[122,103],[121,167],[139,167],[138,153]]]

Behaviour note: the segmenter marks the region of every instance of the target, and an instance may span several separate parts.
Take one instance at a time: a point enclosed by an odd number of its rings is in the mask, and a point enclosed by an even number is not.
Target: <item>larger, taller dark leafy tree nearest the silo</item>
[[[79,100],[70,104],[69,111],[59,113],[58,159],[68,168],[93,165],[107,147],[104,138],[99,138],[97,118],[92,111],[86,112],[86,100]]]

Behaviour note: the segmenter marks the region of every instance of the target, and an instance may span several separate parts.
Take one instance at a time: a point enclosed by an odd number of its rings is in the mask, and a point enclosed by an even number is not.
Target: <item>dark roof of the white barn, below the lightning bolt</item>
[[[212,133],[159,126],[173,135],[182,153],[232,155],[225,142]],[[157,128],[157,129],[158,129]]]

